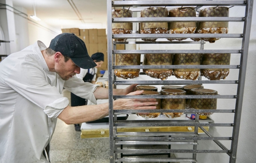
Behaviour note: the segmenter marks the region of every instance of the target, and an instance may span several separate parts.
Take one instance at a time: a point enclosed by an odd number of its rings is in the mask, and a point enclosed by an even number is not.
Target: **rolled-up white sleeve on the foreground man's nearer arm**
[[[56,87],[49,85],[42,67],[29,57],[9,69],[6,74],[5,83],[44,109],[49,118],[57,118],[69,104],[68,98],[63,97]]]

